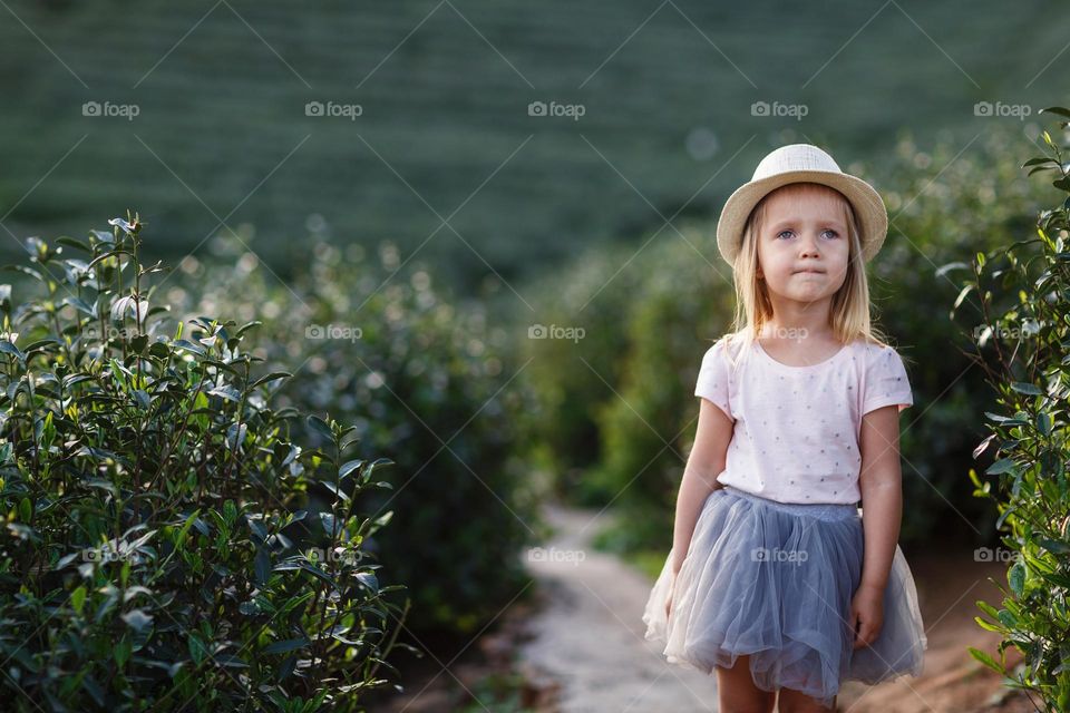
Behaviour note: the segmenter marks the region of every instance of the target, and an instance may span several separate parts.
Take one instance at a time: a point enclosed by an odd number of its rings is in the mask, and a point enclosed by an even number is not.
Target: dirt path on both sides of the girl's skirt
[[[670,665],[643,638],[641,619],[651,582],[617,558],[596,553],[590,539],[595,512],[552,507],[556,535],[528,556],[548,605],[528,624],[521,648],[528,676],[560,685],[562,713],[604,711],[716,711],[711,676]],[[999,603],[988,577],[1005,582],[1005,566],[976,563],[972,553],[911,558],[928,636],[925,672],[877,686],[847,683],[837,700],[850,713],[1020,713],[1033,707],[1010,697],[999,677],[974,661],[966,646],[994,652],[999,642],[973,621],[974,602]],[[1008,658],[1013,661],[1009,652]]]

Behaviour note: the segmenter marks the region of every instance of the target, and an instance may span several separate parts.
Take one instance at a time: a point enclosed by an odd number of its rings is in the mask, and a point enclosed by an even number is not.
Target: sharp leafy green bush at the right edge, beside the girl
[[[1063,140],[1070,139],[1070,109],[1045,111],[1062,117]],[[1000,661],[970,647],[980,662],[1024,690],[1038,710],[1070,710],[1070,172],[1066,146],[1043,133],[1049,153],[1025,162],[1033,173],[1053,173],[1058,205],[1043,211],[1035,237],[979,253],[963,293],[982,303],[983,320],[974,331],[981,362],[999,393],[985,411],[990,434],[975,450],[995,459],[984,471],[993,480],[970,477],[974,495],[995,501],[996,527],[1013,554],[1006,573],[1010,589],[1002,608],[977,602],[998,632]],[[1054,202],[1053,202],[1054,203]],[[999,585],[999,583],[996,583]],[[1008,671],[1004,652],[1023,654],[1020,670]]]

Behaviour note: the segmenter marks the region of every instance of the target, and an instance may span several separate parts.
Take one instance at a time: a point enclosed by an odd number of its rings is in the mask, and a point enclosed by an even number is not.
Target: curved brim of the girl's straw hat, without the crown
[[[755,206],[772,191],[790,183],[818,183],[844,194],[860,223],[863,260],[873,260],[888,234],[888,211],[874,187],[849,174],[789,170],[743,184],[724,202],[717,222],[717,247],[724,262],[735,266],[742,246],[743,227]]]

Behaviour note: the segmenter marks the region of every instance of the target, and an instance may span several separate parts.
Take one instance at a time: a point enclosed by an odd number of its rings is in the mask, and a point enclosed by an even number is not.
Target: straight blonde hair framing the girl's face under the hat
[[[750,345],[761,333],[762,326],[772,318],[772,302],[769,299],[768,286],[763,280],[758,280],[758,236],[766,221],[766,204],[769,196],[778,192],[804,194],[829,192],[839,197],[849,241],[847,276],[829,305],[829,326],[836,340],[843,344],[863,339],[881,346],[887,345],[885,335],[869,318],[869,283],[866,279],[866,263],[862,257],[862,231],[855,211],[844,194],[830,186],[809,182],[790,183],[769,192],[750,212],[743,226],[740,251],[732,266],[732,277],[736,283],[736,316],[732,324],[735,331],[724,336]],[[743,353],[749,351],[749,349],[742,350]]]

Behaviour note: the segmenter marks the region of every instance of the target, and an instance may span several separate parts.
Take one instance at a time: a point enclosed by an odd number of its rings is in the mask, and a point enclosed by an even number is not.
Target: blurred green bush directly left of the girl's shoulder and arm
[[[692,245],[706,244],[698,231],[683,233]],[[730,279],[727,265],[716,272],[675,235],[648,250],[659,268],[632,293],[624,323],[631,349],[622,360],[620,391],[599,414],[602,458],[591,470],[623,516],[619,549],[672,533],[675,495],[698,422],[698,408],[689,408],[698,406],[691,372],[717,335],[709,315],[731,307],[731,283],[721,276]],[[684,286],[693,291],[688,296],[681,294]]]

